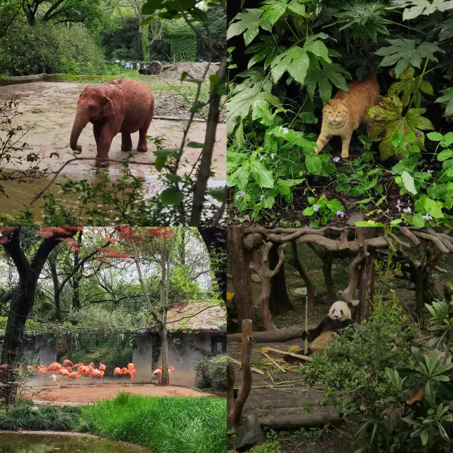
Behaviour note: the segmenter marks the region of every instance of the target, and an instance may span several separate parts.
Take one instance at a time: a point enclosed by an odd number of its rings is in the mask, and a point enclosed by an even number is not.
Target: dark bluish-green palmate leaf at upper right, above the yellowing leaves
[[[395,74],[398,76],[403,73],[411,64],[419,68],[423,58],[428,58],[433,62],[437,62],[434,52],[444,52],[440,47],[432,42],[422,42],[419,46],[416,45],[415,40],[408,40],[406,38],[398,38],[396,40],[387,39],[390,42],[390,47],[381,47],[375,55],[381,55],[384,58],[379,66],[393,66],[395,67]]]

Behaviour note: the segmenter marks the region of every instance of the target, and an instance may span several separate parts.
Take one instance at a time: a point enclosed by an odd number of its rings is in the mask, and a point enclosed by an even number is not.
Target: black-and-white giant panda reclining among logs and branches
[[[352,326],[352,319],[358,309],[358,300],[351,302],[343,302],[338,300],[334,302],[328,311],[328,314],[323,317],[319,325],[309,331],[302,332],[302,340],[309,340],[310,345],[307,354],[323,351],[327,347],[327,343],[331,338],[338,336],[341,329]],[[301,359],[285,354],[283,359],[289,363],[300,363]]]

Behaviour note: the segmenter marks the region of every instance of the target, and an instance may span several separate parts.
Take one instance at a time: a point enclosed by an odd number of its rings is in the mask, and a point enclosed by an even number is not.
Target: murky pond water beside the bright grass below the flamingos
[[[0,434],[0,453],[149,453],[142,447],[84,435]]]

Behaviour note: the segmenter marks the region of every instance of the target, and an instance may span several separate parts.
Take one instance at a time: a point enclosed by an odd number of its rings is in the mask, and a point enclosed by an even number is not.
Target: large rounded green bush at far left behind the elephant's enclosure
[[[103,50],[85,28],[18,25],[0,42],[0,73],[104,74]]]

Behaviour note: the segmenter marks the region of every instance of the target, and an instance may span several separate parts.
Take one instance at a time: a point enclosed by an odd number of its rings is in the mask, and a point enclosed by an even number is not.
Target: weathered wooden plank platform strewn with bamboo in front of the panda
[[[320,426],[323,425],[323,420],[332,423],[338,421],[339,413],[335,408],[320,406],[323,392],[303,384],[298,372],[299,365],[285,365],[292,369],[281,372],[258,352],[263,346],[287,351],[292,345],[299,346],[300,351],[297,353],[304,353],[301,338],[279,343],[253,343],[251,365],[263,369],[265,374],[252,372],[252,389],[244,406],[243,415],[257,414],[260,424],[269,428],[278,428],[278,424],[285,423],[285,420],[292,428]],[[230,357],[241,360],[241,343],[229,342],[227,350]],[[273,359],[283,357],[277,352],[268,354]],[[260,362],[265,363],[265,366],[260,367]],[[242,373],[240,367],[235,368],[234,388],[239,391],[242,386]]]

